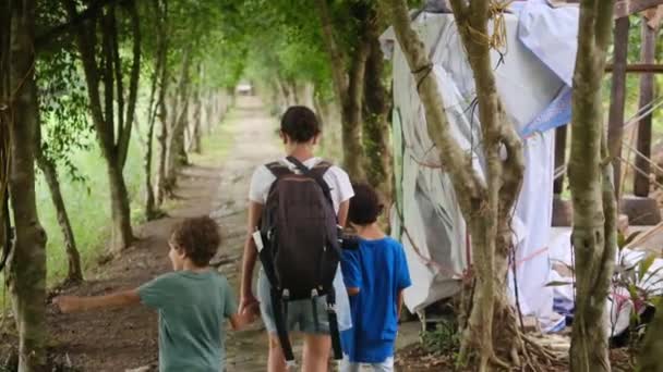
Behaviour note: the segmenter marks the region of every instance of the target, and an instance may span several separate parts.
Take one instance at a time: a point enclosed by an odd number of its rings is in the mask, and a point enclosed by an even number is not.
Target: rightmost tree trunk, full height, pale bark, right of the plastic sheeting
[[[616,249],[612,166],[603,134],[602,78],[613,1],[582,0],[574,74],[569,185],[574,203],[576,311],[571,371],[610,371],[604,309]]]

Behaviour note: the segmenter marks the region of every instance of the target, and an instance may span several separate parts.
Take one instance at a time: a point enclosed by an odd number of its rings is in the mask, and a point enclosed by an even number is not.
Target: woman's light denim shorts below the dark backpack
[[[276,322],[274,320],[274,309],[269,292],[272,285],[267,276],[262,272],[257,278],[257,297],[261,301],[261,315],[268,333],[276,333]],[[306,334],[329,334],[329,319],[327,318],[327,301],[325,297],[315,298],[315,311],[317,313],[317,326],[313,302],[310,299],[288,302],[288,315],[286,324],[289,331],[299,331]]]

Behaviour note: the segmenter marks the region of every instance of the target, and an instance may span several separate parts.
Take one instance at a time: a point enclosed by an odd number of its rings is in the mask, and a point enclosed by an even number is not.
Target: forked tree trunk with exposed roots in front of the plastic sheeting
[[[450,134],[433,65],[425,47],[412,30],[407,4],[389,2],[398,42],[418,84],[429,136],[441,163],[449,173],[459,207],[471,236],[475,289],[468,326],[463,332],[461,361],[470,357],[478,371],[511,365],[537,369],[545,352],[526,343],[506,293],[508,257],[513,251],[511,214],[523,173],[522,144],[508,122],[497,94],[489,45],[472,37],[470,29],[487,35],[489,3],[451,1],[462,45],[472,67],[486,179],[467,166],[467,158]],[[504,149],[504,154],[501,149]],[[510,362],[509,362],[510,361]]]

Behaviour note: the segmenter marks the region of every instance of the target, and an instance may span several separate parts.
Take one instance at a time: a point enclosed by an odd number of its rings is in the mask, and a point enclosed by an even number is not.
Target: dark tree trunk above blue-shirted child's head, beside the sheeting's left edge
[[[391,203],[391,148],[389,91],[383,83],[384,54],[379,45],[379,27],[371,22],[369,32],[370,52],[366,59],[364,85],[363,145],[366,153],[366,178]]]

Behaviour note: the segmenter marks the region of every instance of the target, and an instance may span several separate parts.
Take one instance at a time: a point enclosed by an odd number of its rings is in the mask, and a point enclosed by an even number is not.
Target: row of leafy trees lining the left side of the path
[[[81,259],[59,173],[85,177],[72,156],[94,136],[110,188],[109,252],[131,246],[123,175],[130,141],[140,139],[145,150],[144,210],[154,219],[239,80],[241,69],[216,63],[224,48],[207,52],[227,37],[220,14],[215,1],[0,1],[1,266],[7,263],[20,334],[20,371],[43,371],[47,361],[47,234],[35,168],[64,236],[67,280],[79,282]]]

